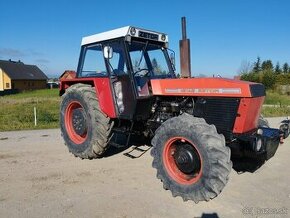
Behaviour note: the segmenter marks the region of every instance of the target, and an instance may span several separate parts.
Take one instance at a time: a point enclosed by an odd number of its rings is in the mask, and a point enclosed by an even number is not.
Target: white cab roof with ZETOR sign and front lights
[[[110,30],[107,32],[83,37],[82,45],[88,45],[88,44],[92,44],[96,42],[101,42],[101,41],[125,37],[125,36],[146,38],[146,39],[151,39],[151,40],[164,42],[164,43],[168,42],[168,35],[164,33],[158,33],[155,31],[145,30],[145,29],[141,29],[137,27],[126,26],[126,27]]]

